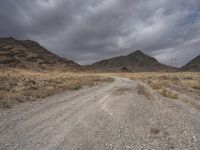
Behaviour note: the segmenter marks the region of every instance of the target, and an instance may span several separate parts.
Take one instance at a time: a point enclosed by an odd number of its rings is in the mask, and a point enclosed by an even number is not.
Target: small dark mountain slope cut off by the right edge
[[[200,71],[200,55],[180,68],[181,71]]]

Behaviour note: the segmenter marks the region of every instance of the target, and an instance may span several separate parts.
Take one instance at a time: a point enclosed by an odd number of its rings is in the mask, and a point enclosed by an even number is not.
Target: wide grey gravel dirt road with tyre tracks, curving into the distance
[[[137,84],[115,78],[0,110],[0,149],[200,149],[200,112],[138,95]]]

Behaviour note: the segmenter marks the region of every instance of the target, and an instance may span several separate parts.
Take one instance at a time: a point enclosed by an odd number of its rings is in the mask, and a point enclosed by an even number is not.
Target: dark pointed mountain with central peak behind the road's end
[[[159,63],[155,58],[137,50],[127,56],[119,56],[96,62],[89,66],[102,71],[172,71],[176,68]]]

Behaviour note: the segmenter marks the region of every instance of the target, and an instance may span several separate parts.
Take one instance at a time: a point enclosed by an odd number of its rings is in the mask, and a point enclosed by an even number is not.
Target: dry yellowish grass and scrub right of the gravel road
[[[141,73],[113,73],[112,75],[139,80],[148,84],[159,94],[172,99],[179,98],[179,94],[200,96],[200,73],[177,72],[141,72]]]

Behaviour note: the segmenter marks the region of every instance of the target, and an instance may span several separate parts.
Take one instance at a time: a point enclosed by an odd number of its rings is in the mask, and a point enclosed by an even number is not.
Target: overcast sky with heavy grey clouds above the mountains
[[[80,64],[135,50],[181,66],[200,54],[199,0],[1,0],[0,37]]]

